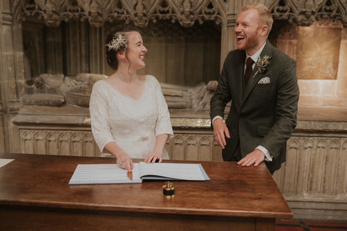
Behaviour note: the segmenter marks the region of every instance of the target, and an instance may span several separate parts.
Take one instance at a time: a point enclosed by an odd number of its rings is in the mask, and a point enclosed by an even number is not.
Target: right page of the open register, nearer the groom
[[[139,163],[140,177],[155,175],[179,180],[205,180],[198,164]]]

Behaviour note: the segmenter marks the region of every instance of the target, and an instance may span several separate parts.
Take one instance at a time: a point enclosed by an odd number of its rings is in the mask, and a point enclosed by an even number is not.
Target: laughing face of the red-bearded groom
[[[252,50],[260,42],[259,13],[256,9],[240,12],[236,20],[235,35],[239,50]]]

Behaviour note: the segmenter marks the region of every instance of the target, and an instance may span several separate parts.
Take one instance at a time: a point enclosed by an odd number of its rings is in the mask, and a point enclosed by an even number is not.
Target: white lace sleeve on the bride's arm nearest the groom
[[[158,119],[155,124],[155,135],[169,134],[169,138],[174,136],[172,131],[170,113],[168,105],[161,91],[160,84],[158,80],[155,79],[155,95],[158,103]]]

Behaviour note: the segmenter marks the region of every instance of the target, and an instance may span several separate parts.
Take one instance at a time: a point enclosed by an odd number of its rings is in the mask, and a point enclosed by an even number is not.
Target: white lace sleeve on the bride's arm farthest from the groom
[[[100,80],[103,81],[103,80]],[[92,89],[89,112],[94,140],[101,152],[109,142],[115,142],[111,134],[111,124],[107,107],[107,99],[98,83]]]

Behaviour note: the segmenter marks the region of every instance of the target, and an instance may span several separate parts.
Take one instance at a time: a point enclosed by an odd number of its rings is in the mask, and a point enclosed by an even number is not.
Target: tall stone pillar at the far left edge
[[[24,86],[22,28],[12,20],[9,0],[0,0],[0,152],[20,152],[11,118]]]

